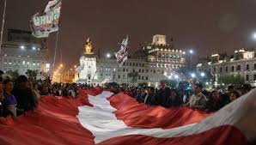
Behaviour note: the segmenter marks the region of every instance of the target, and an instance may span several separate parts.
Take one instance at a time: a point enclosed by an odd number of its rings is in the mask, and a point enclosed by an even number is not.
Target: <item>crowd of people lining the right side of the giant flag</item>
[[[196,83],[192,92],[168,88],[164,82],[157,88],[129,88],[127,94],[133,96],[137,102],[145,103],[148,106],[177,107],[187,106],[192,109],[216,112],[223,106],[236,100],[251,90],[249,84],[241,88],[229,86],[227,91],[204,90],[203,85]]]

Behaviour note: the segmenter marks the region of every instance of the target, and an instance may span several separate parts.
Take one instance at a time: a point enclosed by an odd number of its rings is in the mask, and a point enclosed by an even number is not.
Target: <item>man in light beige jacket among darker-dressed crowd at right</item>
[[[200,83],[195,84],[194,94],[190,97],[187,104],[192,109],[204,110],[206,108],[207,98],[202,94],[203,86]]]

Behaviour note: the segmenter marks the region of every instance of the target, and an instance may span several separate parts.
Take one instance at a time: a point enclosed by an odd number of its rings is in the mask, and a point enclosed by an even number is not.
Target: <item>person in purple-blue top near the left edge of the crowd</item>
[[[9,114],[13,117],[16,117],[17,101],[15,99],[15,96],[12,94],[12,90],[14,89],[14,83],[9,78],[7,78],[3,81],[3,87],[4,87],[3,104],[7,106],[7,110]]]

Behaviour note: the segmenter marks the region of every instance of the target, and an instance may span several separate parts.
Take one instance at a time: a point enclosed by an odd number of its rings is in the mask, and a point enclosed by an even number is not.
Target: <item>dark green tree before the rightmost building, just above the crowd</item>
[[[234,85],[239,87],[245,83],[245,78],[241,75],[224,75],[220,76],[219,82],[224,83],[225,85]]]

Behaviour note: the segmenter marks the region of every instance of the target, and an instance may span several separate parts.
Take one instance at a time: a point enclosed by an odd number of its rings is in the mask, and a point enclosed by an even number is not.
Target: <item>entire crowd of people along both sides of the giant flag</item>
[[[98,86],[99,87],[99,86]],[[46,81],[31,82],[27,76],[19,76],[15,82],[9,77],[0,77],[0,117],[15,118],[27,111],[33,111],[41,96],[52,94],[70,99],[76,99],[80,89],[93,88],[88,84],[61,84]],[[178,107],[187,106],[192,109],[215,112],[246,94],[251,89],[248,84],[239,89],[229,86],[227,92],[213,90],[205,91],[200,83],[194,85],[192,94],[185,90],[168,88],[164,82],[160,88],[111,88],[114,93],[125,92],[137,102],[148,106]]]

